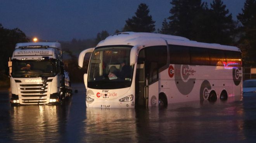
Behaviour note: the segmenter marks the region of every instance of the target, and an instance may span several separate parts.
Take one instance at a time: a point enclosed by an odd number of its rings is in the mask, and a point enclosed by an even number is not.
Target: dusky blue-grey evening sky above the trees
[[[203,0],[211,3],[212,0]],[[171,0],[0,0],[0,24],[19,28],[28,37],[49,41],[95,38],[107,30],[121,30],[125,20],[135,15],[140,3],[146,3],[150,15],[161,28],[170,16]],[[223,0],[236,19],[245,0]]]

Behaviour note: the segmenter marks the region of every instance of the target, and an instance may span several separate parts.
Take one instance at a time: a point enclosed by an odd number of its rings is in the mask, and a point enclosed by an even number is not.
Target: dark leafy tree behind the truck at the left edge
[[[16,43],[20,42],[29,42],[29,39],[20,29],[5,29],[0,24],[0,53],[2,53],[0,57],[0,74],[7,73],[9,57],[12,56]]]

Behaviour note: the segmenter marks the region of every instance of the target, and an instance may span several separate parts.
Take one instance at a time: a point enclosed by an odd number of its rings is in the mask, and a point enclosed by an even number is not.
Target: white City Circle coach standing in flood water
[[[133,108],[187,101],[240,99],[242,59],[237,47],[184,37],[122,32],[99,42],[84,74],[86,106]]]

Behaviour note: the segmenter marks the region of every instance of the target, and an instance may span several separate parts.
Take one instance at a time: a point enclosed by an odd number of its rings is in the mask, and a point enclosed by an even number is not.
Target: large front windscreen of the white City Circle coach
[[[89,64],[88,87],[118,89],[131,86],[133,66],[131,47],[101,47],[95,49]]]

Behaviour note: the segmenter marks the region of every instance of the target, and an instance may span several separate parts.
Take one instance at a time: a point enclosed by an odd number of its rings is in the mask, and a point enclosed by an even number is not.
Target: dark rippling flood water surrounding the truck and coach
[[[11,107],[0,91],[0,142],[255,142],[256,97],[169,104],[166,109],[94,109],[83,84],[62,106]]]

